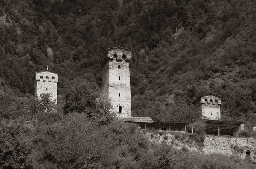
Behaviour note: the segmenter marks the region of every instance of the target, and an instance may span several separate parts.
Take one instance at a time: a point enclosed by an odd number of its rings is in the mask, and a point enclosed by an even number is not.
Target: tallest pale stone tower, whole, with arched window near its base
[[[131,117],[130,68],[132,51],[122,47],[108,48],[100,57],[103,65],[102,89],[111,98],[119,117]]]

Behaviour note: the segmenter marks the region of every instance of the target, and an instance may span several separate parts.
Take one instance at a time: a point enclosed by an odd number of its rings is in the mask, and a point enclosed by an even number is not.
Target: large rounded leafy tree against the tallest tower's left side
[[[92,82],[75,79],[67,86],[64,112],[84,113],[100,125],[110,123],[115,117],[111,100]]]

